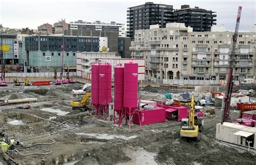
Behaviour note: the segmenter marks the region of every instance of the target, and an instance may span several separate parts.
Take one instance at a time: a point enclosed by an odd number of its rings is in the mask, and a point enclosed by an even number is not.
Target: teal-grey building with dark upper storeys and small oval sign
[[[76,71],[76,53],[99,52],[99,45],[100,37],[32,35],[25,37],[26,61],[32,72],[60,71],[64,53],[65,69]]]

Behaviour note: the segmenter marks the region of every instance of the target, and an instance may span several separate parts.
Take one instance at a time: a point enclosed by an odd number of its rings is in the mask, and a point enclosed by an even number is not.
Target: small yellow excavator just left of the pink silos
[[[70,105],[72,106],[73,110],[79,110],[80,112],[84,112],[89,110],[89,105],[90,105],[90,98],[92,94],[91,93],[86,93],[84,98],[82,100],[73,100],[70,102]]]

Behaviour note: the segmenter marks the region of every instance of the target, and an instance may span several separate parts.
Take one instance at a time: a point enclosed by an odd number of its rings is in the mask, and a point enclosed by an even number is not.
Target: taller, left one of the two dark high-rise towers
[[[158,24],[160,28],[165,28],[165,24],[172,20],[172,12],[172,5],[152,2],[128,8],[127,37],[133,38],[135,30],[149,29],[150,25]]]

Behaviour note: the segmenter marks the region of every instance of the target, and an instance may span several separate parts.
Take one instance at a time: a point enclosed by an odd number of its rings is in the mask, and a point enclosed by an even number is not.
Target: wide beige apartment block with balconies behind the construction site
[[[223,80],[228,71],[231,36],[223,26],[211,32],[193,32],[183,23],[166,28],[151,25],[137,30],[130,50],[132,58],[145,58],[146,74],[157,79]],[[235,50],[235,79],[255,78],[256,32],[239,32]]]

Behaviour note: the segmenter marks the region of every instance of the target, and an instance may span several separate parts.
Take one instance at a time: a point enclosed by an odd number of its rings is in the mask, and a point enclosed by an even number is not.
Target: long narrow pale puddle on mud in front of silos
[[[86,134],[86,133],[76,133],[77,135],[86,135],[86,136],[91,136],[91,137],[95,137],[96,139],[106,139],[106,140],[111,140],[111,139],[124,139],[124,140],[130,140],[130,139],[134,139],[137,138],[137,135],[134,136],[123,136],[123,135],[109,135],[109,134]]]

